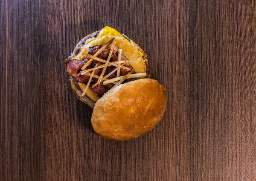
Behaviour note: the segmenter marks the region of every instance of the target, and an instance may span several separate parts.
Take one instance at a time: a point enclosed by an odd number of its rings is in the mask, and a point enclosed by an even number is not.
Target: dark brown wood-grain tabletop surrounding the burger
[[[160,123],[101,138],[64,60],[105,25],[148,54]],[[255,181],[255,0],[1,0],[0,180]]]

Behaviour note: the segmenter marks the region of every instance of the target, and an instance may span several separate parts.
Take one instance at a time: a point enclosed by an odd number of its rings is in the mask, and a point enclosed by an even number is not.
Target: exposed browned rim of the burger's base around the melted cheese
[[[68,57],[68,59],[73,59],[73,57],[75,57],[76,54],[78,54],[80,52],[81,47],[84,45],[84,43],[86,42],[86,40],[92,38],[92,37],[97,37],[99,31],[95,31],[92,34],[87,35],[86,37],[84,37],[83,39],[80,40],[80,42],[76,45],[76,48],[73,51],[73,54]],[[139,47],[139,45],[137,45],[136,43],[134,43],[131,39],[129,39],[127,36],[125,36],[124,34],[122,34],[123,37],[125,37],[127,40],[129,40],[131,43],[133,43],[134,45],[137,46],[137,48],[144,54],[143,55],[143,59],[145,61],[145,65],[146,65],[146,72],[148,74],[148,70],[149,70],[149,65],[148,65],[148,56],[145,54],[145,52]],[[72,85],[72,89],[74,91],[74,93],[76,94],[76,96],[85,104],[89,105],[90,107],[94,107],[95,105],[95,101],[93,101],[92,99],[90,99],[87,96],[81,96],[82,95],[82,91],[79,87],[79,85],[75,84],[73,81],[73,78],[71,77],[71,85]]]

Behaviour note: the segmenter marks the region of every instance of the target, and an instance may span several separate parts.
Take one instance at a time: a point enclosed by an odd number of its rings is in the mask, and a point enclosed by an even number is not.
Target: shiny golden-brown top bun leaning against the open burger
[[[92,126],[106,139],[133,139],[155,127],[166,105],[163,85],[154,79],[135,80],[111,89],[96,102]]]

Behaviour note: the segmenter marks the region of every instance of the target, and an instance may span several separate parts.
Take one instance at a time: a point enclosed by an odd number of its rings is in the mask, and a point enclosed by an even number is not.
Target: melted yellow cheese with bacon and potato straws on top
[[[66,65],[81,96],[94,101],[121,83],[147,76],[143,53],[110,27],[87,39]]]

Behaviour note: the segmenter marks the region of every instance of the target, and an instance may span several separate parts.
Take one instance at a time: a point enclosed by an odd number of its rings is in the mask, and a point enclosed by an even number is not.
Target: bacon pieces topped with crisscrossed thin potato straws
[[[111,88],[121,83],[134,81],[147,76],[146,73],[136,74],[128,59],[122,54],[122,49],[116,46],[112,38],[89,48],[83,60],[66,59],[67,73],[74,82],[86,85],[82,96],[91,91],[102,97]],[[80,86],[81,87],[81,86]]]

